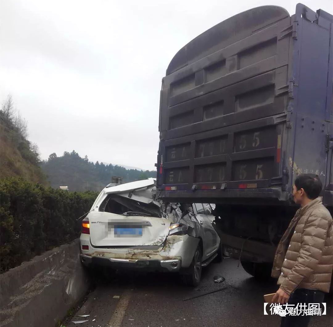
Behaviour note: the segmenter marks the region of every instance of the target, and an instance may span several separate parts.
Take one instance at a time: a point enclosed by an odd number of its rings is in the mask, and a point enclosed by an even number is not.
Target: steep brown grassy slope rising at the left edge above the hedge
[[[46,184],[34,146],[20,133],[12,119],[0,111],[0,176],[20,176],[28,181]]]

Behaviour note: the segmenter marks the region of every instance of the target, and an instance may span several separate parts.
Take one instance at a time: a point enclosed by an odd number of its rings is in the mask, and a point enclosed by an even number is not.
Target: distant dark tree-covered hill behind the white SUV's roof
[[[156,177],[156,171],[126,169],[118,165],[105,165],[98,161],[94,164],[88,157],[81,158],[74,150],[64,152],[61,157],[55,153],[41,164],[51,186],[68,186],[70,191],[100,191],[112,182],[112,176],[123,177],[123,183],[147,177]]]

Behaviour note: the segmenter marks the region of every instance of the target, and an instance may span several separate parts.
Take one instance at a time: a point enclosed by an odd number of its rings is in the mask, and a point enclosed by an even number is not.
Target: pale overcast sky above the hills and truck
[[[11,93],[42,159],[77,151],[90,161],[155,169],[161,80],[173,55],[211,26],[299,1],[0,2],[0,101]],[[332,0],[306,0],[333,12]]]

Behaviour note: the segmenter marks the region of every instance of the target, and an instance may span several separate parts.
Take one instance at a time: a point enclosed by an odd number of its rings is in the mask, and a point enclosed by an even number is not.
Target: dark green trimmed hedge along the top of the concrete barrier
[[[98,193],[56,190],[22,178],[0,180],[1,273],[79,237]]]

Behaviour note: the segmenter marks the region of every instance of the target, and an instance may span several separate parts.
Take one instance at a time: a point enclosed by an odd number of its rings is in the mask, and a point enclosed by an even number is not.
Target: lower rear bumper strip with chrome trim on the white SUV
[[[177,272],[180,270],[181,261],[179,259],[168,260],[143,260],[143,259],[120,259],[100,256],[90,256],[80,254],[81,262],[85,266],[100,265],[114,268],[138,268],[143,270],[161,270]]]

